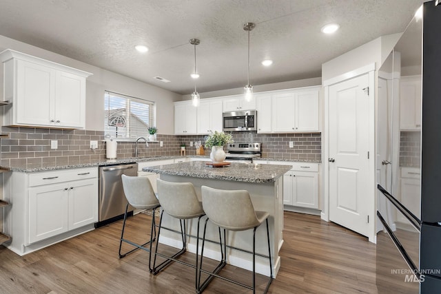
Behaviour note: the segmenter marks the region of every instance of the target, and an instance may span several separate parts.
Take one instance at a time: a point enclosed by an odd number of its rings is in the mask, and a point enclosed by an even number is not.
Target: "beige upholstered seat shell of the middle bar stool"
[[[174,218],[196,218],[204,213],[191,182],[166,182],[157,179],[158,200],[162,209]]]

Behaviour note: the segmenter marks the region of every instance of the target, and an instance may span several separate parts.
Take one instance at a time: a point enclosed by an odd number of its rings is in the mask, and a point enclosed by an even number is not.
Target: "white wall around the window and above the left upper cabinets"
[[[156,127],[161,134],[174,134],[173,103],[181,100],[181,94],[0,35],[0,52],[6,49],[91,72],[93,75],[88,77],[86,83],[86,129],[103,131],[104,91],[109,90],[156,102]],[[0,64],[0,93],[0,98],[3,100],[3,64]]]

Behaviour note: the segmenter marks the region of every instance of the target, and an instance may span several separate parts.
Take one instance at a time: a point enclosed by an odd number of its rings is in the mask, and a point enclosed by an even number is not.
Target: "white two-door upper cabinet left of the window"
[[[1,52],[6,107],[3,125],[83,129],[90,73],[13,50]]]

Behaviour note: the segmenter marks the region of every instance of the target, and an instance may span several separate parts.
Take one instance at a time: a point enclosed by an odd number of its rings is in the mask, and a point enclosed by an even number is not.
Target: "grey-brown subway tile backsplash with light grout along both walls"
[[[105,160],[105,141],[103,131],[46,129],[32,127],[1,127],[2,138],[1,166],[40,167],[55,165],[78,165]],[[177,156],[181,144],[187,147],[187,155],[196,155],[196,149],[190,142],[205,143],[206,136],[174,136],[156,134],[156,140],[149,142],[149,147],[139,142],[139,156]],[[257,134],[256,132],[234,132],[235,142],[262,143],[262,156],[267,158],[285,158],[291,160],[320,160],[321,134]],[[51,149],[51,140],[57,140],[58,148]],[[90,140],[98,141],[97,149],[90,149]],[[294,148],[289,148],[289,141]],[[119,142],[117,158],[134,157],[134,142]],[[209,154],[209,149],[205,149]]]

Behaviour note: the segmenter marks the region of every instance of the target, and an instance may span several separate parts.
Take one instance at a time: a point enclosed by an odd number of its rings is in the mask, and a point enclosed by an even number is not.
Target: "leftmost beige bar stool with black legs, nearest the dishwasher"
[[[119,258],[125,257],[125,255],[132,253],[137,249],[143,249],[149,252],[149,270],[151,271],[150,260],[152,259],[152,242],[156,238],[156,223],[154,220],[154,213],[159,204],[158,199],[153,191],[152,184],[150,180],[146,177],[141,176],[126,176],[121,175],[121,180],[123,180],[123,190],[125,193],[125,198],[127,198],[127,206],[125,207],[123,230],[121,231],[121,240],[119,242]],[[130,240],[124,239],[125,221],[127,220],[127,210],[129,205],[132,205],[135,209],[152,209],[152,228],[150,229],[150,240],[144,244],[136,244]],[[136,248],[127,251],[126,253],[121,253],[121,246],[123,242],[131,244]],[[145,248],[145,245],[150,244],[150,248]]]

